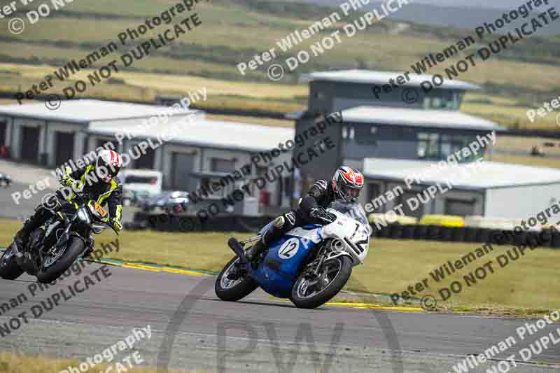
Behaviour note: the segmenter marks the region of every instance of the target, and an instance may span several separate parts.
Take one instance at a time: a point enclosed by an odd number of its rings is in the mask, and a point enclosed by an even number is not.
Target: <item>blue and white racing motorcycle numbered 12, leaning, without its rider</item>
[[[228,246],[237,256],[216,279],[216,295],[235,302],[260,287],[274,297],[290,299],[299,308],[314,309],[328,302],[346,285],[352,268],[365,260],[372,230],[358,203],[336,201],[326,211],[332,214],[332,223],[290,230],[257,258],[260,264],[256,268],[246,259],[252,246],[247,250],[244,246],[260,239],[272,222],[256,237],[231,238]],[[243,262],[247,262],[246,270],[239,271]]]

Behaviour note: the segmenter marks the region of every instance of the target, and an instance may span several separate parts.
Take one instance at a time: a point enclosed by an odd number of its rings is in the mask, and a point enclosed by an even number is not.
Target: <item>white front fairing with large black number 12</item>
[[[339,239],[342,242],[340,250],[351,255],[353,265],[363,263],[370,246],[369,226],[334,209],[328,209],[328,211],[334,213],[337,220],[321,228],[321,237]]]

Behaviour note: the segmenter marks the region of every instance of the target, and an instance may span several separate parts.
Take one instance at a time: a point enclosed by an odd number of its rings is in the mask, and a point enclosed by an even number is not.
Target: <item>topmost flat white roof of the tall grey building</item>
[[[330,81],[344,83],[366,83],[374,85],[390,84],[389,80],[394,79],[404,72],[398,71],[372,71],[372,70],[339,70],[339,71],[316,71],[314,73],[304,74],[303,82],[311,81]],[[409,81],[402,84],[407,87],[420,87],[423,81],[431,81],[433,75],[409,73]],[[463,82],[462,80],[445,79],[444,83],[437,87],[447,90],[479,90],[481,87],[472,83]]]

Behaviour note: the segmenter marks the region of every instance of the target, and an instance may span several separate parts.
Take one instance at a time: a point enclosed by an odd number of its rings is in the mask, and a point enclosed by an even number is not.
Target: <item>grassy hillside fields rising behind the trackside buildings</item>
[[[134,27],[146,17],[162,13],[175,2],[121,0],[116,4],[104,0],[92,4],[74,1],[64,8],[66,13],[56,13],[41,18],[35,24],[28,24],[22,34],[6,35],[0,39],[0,92],[29,87],[68,59],[85,57],[92,50],[116,40],[117,35],[127,27]],[[28,8],[35,7],[31,5]],[[26,8],[20,4],[19,9]],[[427,52],[447,48],[469,32],[382,20],[352,38],[343,35],[342,43],[288,73],[280,82],[267,79],[267,65],[248,71],[245,76],[237,71],[239,62],[248,61],[255,54],[275,46],[276,41],[295,29],[307,28],[334,10],[297,3],[278,6],[258,0],[200,3],[196,8],[202,20],[200,27],[172,45],[135,62],[134,71],[116,73],[114,78],[122,80],[122,84],[104,83],[88,91],[88,94],[110,99],[153,100],[157,94],[184,94],[192,89],[193,80],[205,78],[197,83],[212,88],[207,106],[297,111],[305,108],[306,104],[301,97],[306,96],[307,87],[298,83],[302,73],[353,68],[410,71],[410,65]],[[309,50],[311,43],[342,29],[346,22],[352,22],[359,15],[351,13],[292,50],[279,52],[275,62],[282,62],[299,50]],[[182,18],[177,17],[174,22]],[[1,21],[0,27],[7,26],[6,23],[6,20]],[[159,29],[148,31],[135,42],[155,36],[167,27],[162,25]],[[486,87],[482,93],[465,97],[463,111],[507,126],[557,129],[554,115],[535,123],[528,122],[525,116],[527,108],[540,106],[544,99],[557,97],[553,93],[560,87],[557,59],[553,52],[559,49],[558,38],[534,36],[533,39],[540,45],[539,48],[535,48],[531,40],[524,41],[508,50],[507,58],[491,58],[461,76],[463,80]],[[118,58],[131,47],[119,45],[114,56],[106,57],[94,66],[99,67]],[[279,48],[276,46],[276,49]],[[442,73],[456,61],[451,59],[430,73]],[[62,85],[57,85],[52,92],[61,92],[62,88]]]

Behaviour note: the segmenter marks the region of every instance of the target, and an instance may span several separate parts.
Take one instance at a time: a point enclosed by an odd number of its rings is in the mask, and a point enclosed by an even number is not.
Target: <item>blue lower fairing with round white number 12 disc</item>
[[[316,242],[320,241],[320,231],[317,225],[306,225],[302,234],[312,239],[301,237],[300,234],[289,234],[276,241],[258,269],[252,271],[251,276],[267,293],[275,297],[288,298],[292,287],[300,274],[302,262],[313,251]],[[264,230],[264,228],[263,228]],[[300,233],[302,233],[300,231]]]

